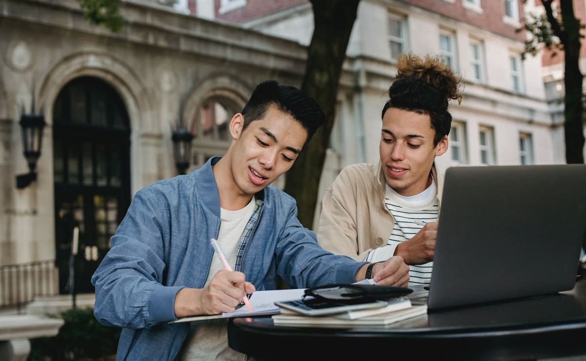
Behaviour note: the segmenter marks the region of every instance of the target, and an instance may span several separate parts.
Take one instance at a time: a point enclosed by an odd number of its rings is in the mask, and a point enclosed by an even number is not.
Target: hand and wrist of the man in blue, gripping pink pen
[[[206,288],[182,288],[175,295],[175,317],[234,312],[247,293],[255,291],[244,273],[220,270]]]

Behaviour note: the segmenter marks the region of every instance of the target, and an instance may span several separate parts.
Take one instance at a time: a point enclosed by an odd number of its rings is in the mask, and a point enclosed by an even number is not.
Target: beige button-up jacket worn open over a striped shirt
[[[435,164],[431,176],[441,201],[443,177],[438,177]],[[323,197],[319,245],[358,261],[366,259],[374,248],[386,245],[395,221],[384,205],[385,184],[380,161],[342,169]]]

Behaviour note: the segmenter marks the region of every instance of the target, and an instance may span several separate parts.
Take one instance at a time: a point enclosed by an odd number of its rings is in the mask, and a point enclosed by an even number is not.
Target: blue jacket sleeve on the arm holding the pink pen
[[[139,191],[112,237],[112,247],[91,277],[94,315],[101,324],[146,328],[176,319],[175,295],[163,286],[169,205]]]

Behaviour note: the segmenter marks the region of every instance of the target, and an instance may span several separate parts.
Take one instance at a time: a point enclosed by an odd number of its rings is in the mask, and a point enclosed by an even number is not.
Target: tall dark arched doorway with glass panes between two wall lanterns
[[[76,293],[93,293],[91,275],[130,205],[130,123],[124,102],[96,77],[71,80],[53,106],[56,266],[69,293],[69,258],[79,226]]]

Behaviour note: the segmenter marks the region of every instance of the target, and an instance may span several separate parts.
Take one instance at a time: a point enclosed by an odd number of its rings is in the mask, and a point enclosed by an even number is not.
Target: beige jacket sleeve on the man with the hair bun
[[[358,253],[357,198],[358,184],[352,169],[346,167],[326,190],[319,217],[318,242],[335,255],[363,261],[370,249]],[[367,200],[362,200],[367,202]]]

